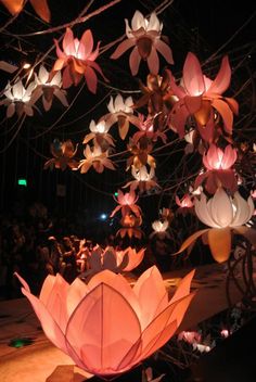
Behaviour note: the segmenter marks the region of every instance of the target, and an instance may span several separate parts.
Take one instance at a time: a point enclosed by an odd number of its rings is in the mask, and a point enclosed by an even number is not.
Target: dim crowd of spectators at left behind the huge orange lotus
[[[146,246],[143,264],[137,271],[140,272],[153,264],[163,268],[163,260],[157,264],[149,243],[126,242],[114,234],[106,234],[105,231],[100,235],[98,232],[98,237],[90,237],[81,220],[74,216],[71,219],[50,217],[40,203],[35,203],[23,214],[1,214],[0,298],[22,296],[14,272],[24,277],[36,294],[40,292],[47,275],[59,272],[72,282],[87,269],[88,252],[97,243],[102,247],[112,245],[120,250],[132,244],[138,245],[138,250]]]

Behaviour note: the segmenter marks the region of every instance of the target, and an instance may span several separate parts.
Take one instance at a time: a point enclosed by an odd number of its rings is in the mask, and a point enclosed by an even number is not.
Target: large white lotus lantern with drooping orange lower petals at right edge
[[[193,233],[183,242],[178,253],[203,234],[213,257],[218,263],[226,262],[230,256],[232,232],[243,234],[254,246],[256,245],[256,230],[245,226],[254,214],[251,196],[245,201],[239,192],[235,192],[234,196],[230,198],[220,188],[208,202],[202,193],[200,200],[195,200],[195,213],[203,224],[212,228]]]

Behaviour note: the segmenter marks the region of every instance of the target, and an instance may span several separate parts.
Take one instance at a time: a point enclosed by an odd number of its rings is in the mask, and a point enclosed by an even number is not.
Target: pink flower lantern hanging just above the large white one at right
[[[195,189],[205,182],[205,189],[209,193],[215,193],[219,187],[222,187],[230,192],[238,189],[238,180],[234,170],[231,168],[236,161],[236,151],[231,144],[227,145],[225,151],[210,144],[207,153],[203,156],[203,164],[207,170],[200,174],[194,187]]]

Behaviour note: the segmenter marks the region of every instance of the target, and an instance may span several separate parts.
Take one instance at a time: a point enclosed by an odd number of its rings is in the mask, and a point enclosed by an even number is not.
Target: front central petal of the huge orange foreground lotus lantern
[[[80,302],[66,329],[69,344],[74,349],[81,349],[84,365],[95,374],[115,373],[123,355],[140,333],[140,321],[130,304],[117,290],[104,283]]]

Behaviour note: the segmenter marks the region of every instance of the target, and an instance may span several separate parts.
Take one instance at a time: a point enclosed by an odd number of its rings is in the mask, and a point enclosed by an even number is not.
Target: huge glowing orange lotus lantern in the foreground
[[[17,277],[48,339],[78,367],[107,379],[133,368],[175,334],[194,296],[193,275],[181,280],[170,301],[156,267],[133,288],[110,270],[88,284],[76,279],[69,285],[60,275],[48,276],[39,298]]]

